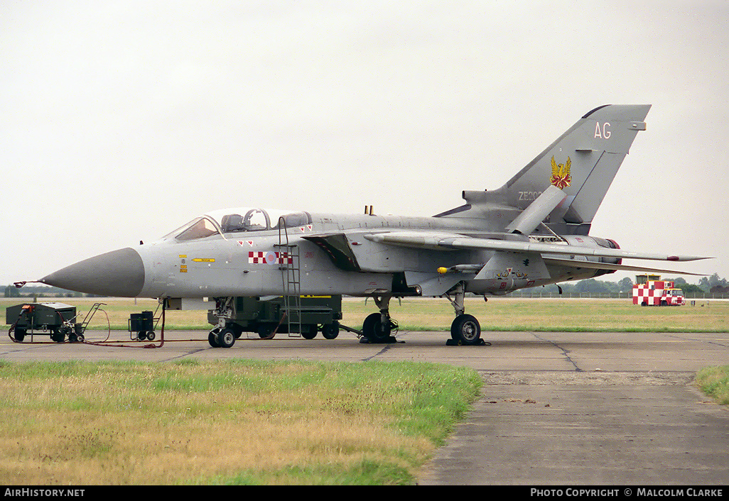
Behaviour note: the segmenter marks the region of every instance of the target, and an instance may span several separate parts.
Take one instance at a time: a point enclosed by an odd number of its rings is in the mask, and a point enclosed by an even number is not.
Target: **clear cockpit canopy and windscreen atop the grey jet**
[[[235,208],[214,210],[205,216],[193,219],[174,232],[166,234],[162,240],[174,239],[178,242],[242,232],[262,232],[270,229],[292,228],[311,224],[311,214],[289,212],[286,210],[266,210],[260,208]]]

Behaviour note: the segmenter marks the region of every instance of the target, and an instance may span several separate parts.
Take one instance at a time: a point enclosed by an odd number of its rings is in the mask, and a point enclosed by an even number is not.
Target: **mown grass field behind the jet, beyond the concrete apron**
[[[157,301],[139,299],[61,299],[87,312],[95,301],[104,301],[90,328],[127,329],[130,313],[155,310]],[[18,304],[0,301],[1,307]],[[343,301],[342,323],[362,327],[364,317],[378,311],[372,300]],[[729,301],[697,300],[695,306],[639,307],[624,299],[467,299],[466,311],[480,320],[483,331],[635,331],[635,332],[728,332]],[[393,299],[391,316],[401,330],[448,331],[453,307],[445,299]],[[108,315],[109,320],[107,320]],[[204,311],[169,311],[168,329],[209,329]]]

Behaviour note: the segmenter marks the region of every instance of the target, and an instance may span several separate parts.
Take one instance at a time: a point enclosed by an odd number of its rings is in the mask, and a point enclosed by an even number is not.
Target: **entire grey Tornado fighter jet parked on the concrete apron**
[[[120,297],[214,299],[211,344],[230,347],[236,297],[372,297],[379,308],[362,335],[390,339],[393,297],[438,296],[456,312],[451,336],[479,344],[480,324],[464,295],[597,277],[623,259],[692,261],[634,253],[590,237],[590,222],[650,105],[600,106],[494,191],[464,191],[465,203],[430,217],[231,208],[205,214],[161,240],[95,256],[40,282]],[[666,271],[666,270],[660,270]]]

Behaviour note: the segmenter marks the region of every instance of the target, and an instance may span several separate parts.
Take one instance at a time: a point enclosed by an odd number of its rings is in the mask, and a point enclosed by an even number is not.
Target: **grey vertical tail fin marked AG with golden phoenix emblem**
[[[524,209],[550,186],[567,195],[550,216],[555,226],[590,223],[628,154],[650,105],[593,109],[529,162],[501,189],[507,205]]]

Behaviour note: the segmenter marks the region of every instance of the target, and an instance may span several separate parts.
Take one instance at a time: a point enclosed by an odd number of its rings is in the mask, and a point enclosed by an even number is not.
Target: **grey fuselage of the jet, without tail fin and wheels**
[[[253,229],[225,226],[226,218],[243,218],[251,210],[260,215],[260,224]],[[229,214],[223,214],[226,212]],[[284,275],[296,267],[298,292],[303,295],[441,296],[462,280],[467,292],[500,294],[599,274],[596,269],[577,272],[547,267],[539,253],[444,252],[442,248],[394,247],[372,240],[373,235],[410,231],[418,237],[492,235],[493,229],[484,227],[483,219],[297,212],[282,215],[283,221],[287,215],[295,215],[295,221],[289,222],[299,224],[281,224],[279,229],[276,212],[217,211],[163,240],[80,261],[43,281],[110,296],[271,296],[286,293]],[[580,238],[584,245],[596,245],[591,237]],[[482,269],[487,263],[491,269]],[[453,269],[464,266],[472,269]],[[453,272],[439,273],[438,269]]]

